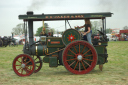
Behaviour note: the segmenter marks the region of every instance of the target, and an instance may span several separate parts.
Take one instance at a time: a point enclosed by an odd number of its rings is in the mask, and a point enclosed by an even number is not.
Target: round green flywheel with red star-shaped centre
[[[65,45],[69,44],[72,41],[80,40],[80,39],[81,39],[80,33],[75,29],[68,29],[62,35],[62,41]]]

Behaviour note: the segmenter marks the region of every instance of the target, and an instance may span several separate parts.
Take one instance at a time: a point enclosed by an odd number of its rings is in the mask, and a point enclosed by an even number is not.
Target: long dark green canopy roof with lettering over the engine
[[[104,19],[105,17],[111,17],[111,12],[100,13],[70,13],[70,14],[33,14],[33,12],[27,12],[25,15],[19,15],[19,19],[33,20],[33,21],[48,21],[48,20],[77,20],[77,19]]]

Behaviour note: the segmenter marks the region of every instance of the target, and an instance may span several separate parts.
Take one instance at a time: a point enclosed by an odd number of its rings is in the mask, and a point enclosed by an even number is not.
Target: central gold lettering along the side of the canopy
[[[45,16],[46,19],[61,19],[61,18],[84,18],[84,15],[67,15],[67,16]]]

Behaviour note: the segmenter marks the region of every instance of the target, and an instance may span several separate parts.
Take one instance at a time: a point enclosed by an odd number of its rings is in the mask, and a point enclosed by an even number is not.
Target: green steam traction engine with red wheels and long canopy
[[[29,76],[42,68],[42,64],[49,63],[49,67],[64,67],[74,74],[86,74],[99,65],[102,70],[103,64],[107,62],[107,37],[106,17],[111,17],[112,13],[83,13],[83,14],[42,14],[34,15],[27,12],[26,15],[19,15],[19,19],[24,20],[24,30],[27,36],[27,24],[29,29],[29,43],[25,41],[23,47],[24,54],[15,57],[13,70],[19,76]],[[76,29],[67,29],[62,37],[40,36],[40,40],[33,41],[33,21],[49,20],[77,20],[77,19],[102,19],[103,28],[100,39],[92,37],[93,45],[82,40],[81,34]],[[45,29],[42,30],[45,33]],[[27,40],[27,38],[25,39]],[[41,59],[40,56],[44,56]]]

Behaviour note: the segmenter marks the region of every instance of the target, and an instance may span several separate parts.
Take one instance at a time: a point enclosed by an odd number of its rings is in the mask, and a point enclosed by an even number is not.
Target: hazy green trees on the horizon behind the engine
[[[56,32],[56,30],[54,28],[49,27],[48,23],[44,23],[44,27],[45,27],[45,32],[46,33],[51,32],[51,31],[53,33]],[[42,28],[43,28],[43,26],[37,28],[37,31],[34,35],[39,36],[40,33],[42,32]],[[92,30],[93,34],[97,34],[98,33],[97,30],[101,30],[101,28],[102,28],[101,21],[91,21],[91,30]],[[124,30],[128,29],[128,26],[124,26],[123,29]],[[106,33],[111,33],[111,32],[112,32],[111,28],[106,29]],[[20,24],[16,25],[16,27],[14,27],[12,29],[12,33],[14,35],[23,35],[24,34],[24,24],[20,23]]]

